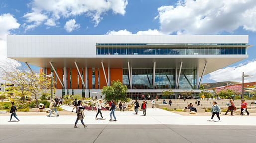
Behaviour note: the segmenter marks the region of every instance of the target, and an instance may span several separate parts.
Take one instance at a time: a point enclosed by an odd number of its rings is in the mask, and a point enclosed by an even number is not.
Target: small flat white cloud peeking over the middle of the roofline
[[[108,31],[106,35],[164,35],[164,34],[158,31],[157,29],[154,29],[154,30],[148,29],[146,31],[138,31],[135,34],[132,34],[131,32],[125,29],[125,30],[119,30],[119,31],[115,31],[115,30]]]

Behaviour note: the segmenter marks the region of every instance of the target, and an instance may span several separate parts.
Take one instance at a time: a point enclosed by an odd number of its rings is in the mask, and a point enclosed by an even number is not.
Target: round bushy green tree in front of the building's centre
[[[114,100],[115,102],[127,101],[127,86],[123,85],[120,80],[112,81],[111,86],[105,86],[102,88],[103,95],[105,95],[106,100]]]

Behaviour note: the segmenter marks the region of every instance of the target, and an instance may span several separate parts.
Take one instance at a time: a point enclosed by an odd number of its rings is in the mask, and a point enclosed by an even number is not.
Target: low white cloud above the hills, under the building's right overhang
[[[239,64],[237,66],[226,67],[219,69],[209,74],[209,80],[216,82],[222,81],[236,81],[242,83],[242,73],[246,75],[253,75],[252,77],[246,77],[245,82],[256,81],[256,59],[247,63]]]

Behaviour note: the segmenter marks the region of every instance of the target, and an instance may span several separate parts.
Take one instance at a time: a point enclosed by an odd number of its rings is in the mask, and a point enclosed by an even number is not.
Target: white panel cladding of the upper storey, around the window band
[[[248,35],[8,35],[7,43],[7,57],[96,57],[97,43],[247,44]]]

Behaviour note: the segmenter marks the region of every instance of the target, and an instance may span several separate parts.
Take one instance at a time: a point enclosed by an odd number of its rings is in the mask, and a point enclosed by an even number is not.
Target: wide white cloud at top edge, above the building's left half
[[[55,26],[54,23],[60,17],[85,15],[91,17],[97,26],[107,11],[124,15],[127,4],[128,0],[32,0],[28,4],[32,12],[26,13],[24,17],[28,23],[33,22],[32,27],[35,27],[48,18],[51,21],[47,20],[44,24]],[[39,18],[34,17],[35,15]]]

